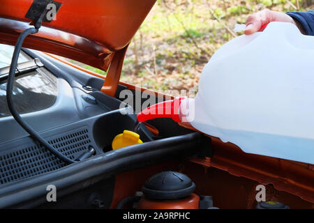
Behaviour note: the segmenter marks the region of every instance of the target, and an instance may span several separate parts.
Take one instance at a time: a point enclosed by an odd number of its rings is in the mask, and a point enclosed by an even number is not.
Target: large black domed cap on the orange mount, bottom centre
[[[195,190],[188,176],[174,171],[163,171],[149,178],[142,192],[149,199],[174,200],[190,196]]]

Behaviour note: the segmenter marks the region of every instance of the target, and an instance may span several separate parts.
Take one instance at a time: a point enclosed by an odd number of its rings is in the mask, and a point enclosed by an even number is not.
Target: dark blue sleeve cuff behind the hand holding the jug
[[[306,35],[314,36],[314,11],[309,10],[307,12],[290,12],[287,13],[294,20],[300,22],[300,24],[304,27],[304,31],[306,31]]]

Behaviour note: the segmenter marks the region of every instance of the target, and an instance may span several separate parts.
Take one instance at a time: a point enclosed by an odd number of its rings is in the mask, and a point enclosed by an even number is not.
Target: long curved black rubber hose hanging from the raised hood
[[[8,102],[8,109],[10,110],[12,116],[15,118],[15,121],[21,125],[22,128],[24,128],[25,131],[27,131],[33,139],[38,141],[41,145],[43,145],[48,151],[50,151],[53,155],[58,157],[63,162],[66,162],[67,164],[71,164],[75,161],[70,160],[68,157],[57,151],[53,146],[51,146],[43,137],[40,136],[29,124],[27,124],[20,116],[20,114],[17,113],[17,110],[15,109],[15,105],[13,102],[13,83],[15,78],[15,70],[17,68],[17,60],[19,58],[19,54],[21,51],[22,44],[24,42],[24,39],[29,35],[33,33],[37,33],[38,29],[35,28],[29,28],[24,30],[19,38],[17,38],[17,43],[15,45],[15,49],[13,52],[13,57],[10,65],[10,71],[8,75],[8,82],[6,84],[6,101]]]

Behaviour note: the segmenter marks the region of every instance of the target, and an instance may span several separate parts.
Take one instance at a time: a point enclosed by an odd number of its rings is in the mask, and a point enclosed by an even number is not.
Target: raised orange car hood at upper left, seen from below
[[[156,0],[56,0],[55,20],[43,22],[23,47],[65,56],[107,70],[114,52],[124,49]],[[33,0],[1,0],[0,43],[15,45],[30,27],[25,15]]]

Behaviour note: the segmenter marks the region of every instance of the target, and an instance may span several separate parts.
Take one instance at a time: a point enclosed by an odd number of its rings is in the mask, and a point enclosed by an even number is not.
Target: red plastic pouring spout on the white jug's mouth
[[[175,98],[174,100],[167,100],[165,102],[152,105],[137,114],[137,121],[142,123],[143,121],[153,118],[172,118],[173,121],[180,122],[181,118],[179,116],[179,107],[181,100],[183,99],[184,98]]]

